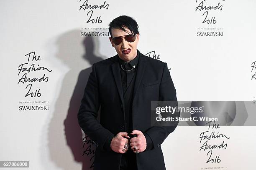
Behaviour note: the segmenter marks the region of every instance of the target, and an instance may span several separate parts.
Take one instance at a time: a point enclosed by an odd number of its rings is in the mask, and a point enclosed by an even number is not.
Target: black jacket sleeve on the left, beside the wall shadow
[[[94,140],[101,150],[111,150],[110,144],[105,142],[112,139],[114,134],[104,128],[98,121],[97,115],[100,107],[99,88],[95,65],[92,65],[92,72],[84,89],[84,96],[77,114],[78,123],[85,134]]]

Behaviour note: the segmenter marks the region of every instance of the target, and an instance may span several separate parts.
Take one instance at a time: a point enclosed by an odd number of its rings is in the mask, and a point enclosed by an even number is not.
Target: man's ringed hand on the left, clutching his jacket
[[[125,143],[128,143],[128,139],[126,138],[130,138],[130,136],[128,136],[127,132],[119,132],[111,141],[110,143],[110,147],[111,149],[116,152],[116,153],[125,153],[127,149],[124,149]]]

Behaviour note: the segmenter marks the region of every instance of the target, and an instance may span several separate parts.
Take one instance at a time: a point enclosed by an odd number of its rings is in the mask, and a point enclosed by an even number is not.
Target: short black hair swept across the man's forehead
[[[139,34],[138,32],[138,24],[136,22],[136,20],[134,20],[134,18],[128,17],[126,15],[121,15],[118,18],[115,18],[113,21],[111,21],[109,23],[109,33],[112,37],[112,32],[111,29],[112,28],[117,28],[120,30],[123,30],[124,32],[127,32],[124,27],[127,27],[132,34]]]

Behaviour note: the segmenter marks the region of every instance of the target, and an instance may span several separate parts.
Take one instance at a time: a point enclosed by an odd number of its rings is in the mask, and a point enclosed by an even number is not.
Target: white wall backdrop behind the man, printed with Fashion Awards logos
[[[196,8],[201,0],[106,0],[104,7],[92,12],[79,10],[84,2],[87,7],[104,4],[103,0],[0,2],[0,161],[29,161],[33,170],[90,169],[93,153],[83,155],[90,145],[83,147],[77,110],[91,65],[116,52],[108,36],[81,36],[81,32],[108,32],[104,29],[120,15],[136,19],[141,35],[138,50],[143,54],[155,51],[167,62],[178,100],[255,100],[254,0],[206,0],[204,5],[220,3],[222,10],[202,11]],[[202,23],[205,11],[207,19],[215,17],[217,23]],[[101,23],[87,23],[99,16]],[[223,36],[198,36],[197,32],[222,32]],[[39,60],[30,57],[28,61],[25,55],[30,52],[40,55]],[[19,82],[24,74],[18,75],[19,65],[24,63],[51,70],[27,73],[27,78],[46,74],[48,81],[32,82],[29,91],[29,82]],[[25,97],[30,92],[33,97]],[[49,110],[24,110],[35,105]],[[199,136],[205,128],[178,126],[169,135],[162,146],[167,170],[253,169],[255,126],[221,127],[230,139],[227,149],[214,153],[220,155],[220,163],[206,163],[207,152],[199,151]],[[94,149],[91,145],[90,151]]]

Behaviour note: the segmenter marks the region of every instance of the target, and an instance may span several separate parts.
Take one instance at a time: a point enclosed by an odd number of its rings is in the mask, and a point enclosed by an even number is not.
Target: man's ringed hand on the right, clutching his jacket
[[[139,131],[139,130],[133,130],[133,133],[131,133],[132,135],[137,135],[134,138],[131,138],[130,140],[130,146],[131,149],[134,149],[134,146],[136,146],[137,150],[141,153],[144,150],[146,150],[147,148],[147,141],[146,138],[144,136],[144,134]],[[135,153],[135,150],[133,150],[133,152]]]

